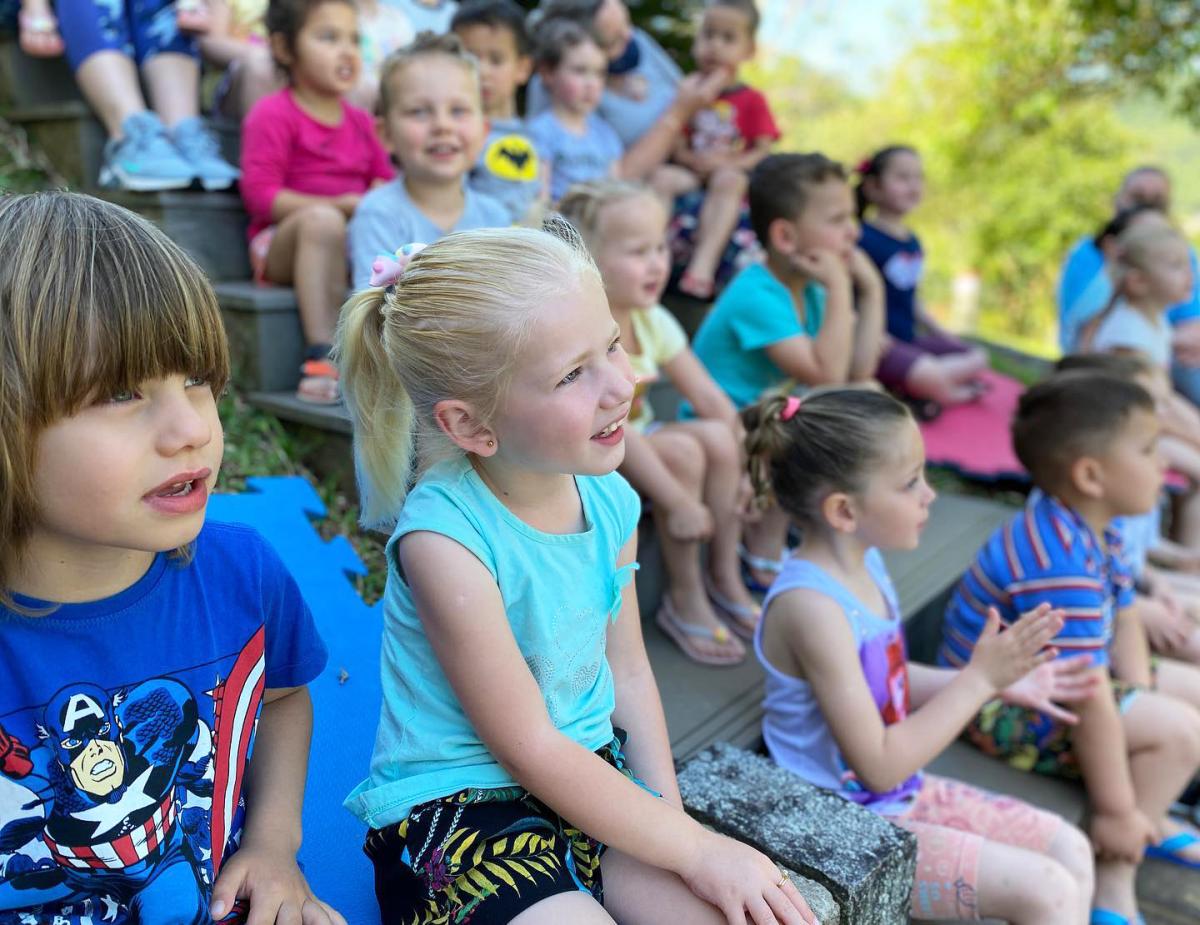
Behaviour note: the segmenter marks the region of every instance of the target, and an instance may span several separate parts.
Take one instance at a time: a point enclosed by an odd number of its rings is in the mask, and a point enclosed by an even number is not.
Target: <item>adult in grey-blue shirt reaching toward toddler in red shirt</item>
[[[595,38],[608,58],[608,77],[596,109],[625,146],[622,175],[646,179],[671,154],[684,126],[721,91],[724,74],[683,77],[647,32],[632,24],[622,0],[542,0],[530,13],[532,34],[548,19],[570,19]],[[540,77],[529,82],[527,116],[550,106]]]

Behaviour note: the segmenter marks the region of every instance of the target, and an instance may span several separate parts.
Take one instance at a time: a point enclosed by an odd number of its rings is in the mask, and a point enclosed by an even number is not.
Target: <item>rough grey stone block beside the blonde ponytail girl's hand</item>
[[[917,860],[910,833],[725,743],[684,765],[679,789],[701,822],[828,889],[841,925],[908,921]]]

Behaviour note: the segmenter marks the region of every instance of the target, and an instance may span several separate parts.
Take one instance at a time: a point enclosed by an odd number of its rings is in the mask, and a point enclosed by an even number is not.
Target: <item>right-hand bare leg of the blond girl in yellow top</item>
[[[746,590],[738,563],[742,517],[737,501],[742,456],[737,438],[724,421],[685,421],[670,426],[686,431],[704,448],[708,463],[704,505],[713,513],[713,535],[708,541],[708,573],[713,585],[731,603],[757,612],[758,603]]]

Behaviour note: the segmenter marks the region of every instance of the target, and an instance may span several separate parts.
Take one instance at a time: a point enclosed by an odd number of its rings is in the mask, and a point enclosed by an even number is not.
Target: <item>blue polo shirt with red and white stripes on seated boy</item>
[[[1079,513],[1034,489],[959,582],[942,620],[937,661],[955,668],[970,661],[988,607],[1009,626],[1048,602],[1066,613],[1052,642],[1058,657],[1087,653],[1093,665],[1108,666],[1112,619],[1133,603],[1133,585],[1118,524],[1105,529],[1100,543]]]

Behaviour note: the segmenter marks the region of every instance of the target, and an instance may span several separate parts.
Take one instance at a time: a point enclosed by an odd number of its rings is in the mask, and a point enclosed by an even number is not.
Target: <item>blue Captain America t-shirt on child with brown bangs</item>
[[[282,561],[233,524],[112,597],[0,606],[0,925],[211,921],[263,691],[326,657]]]

